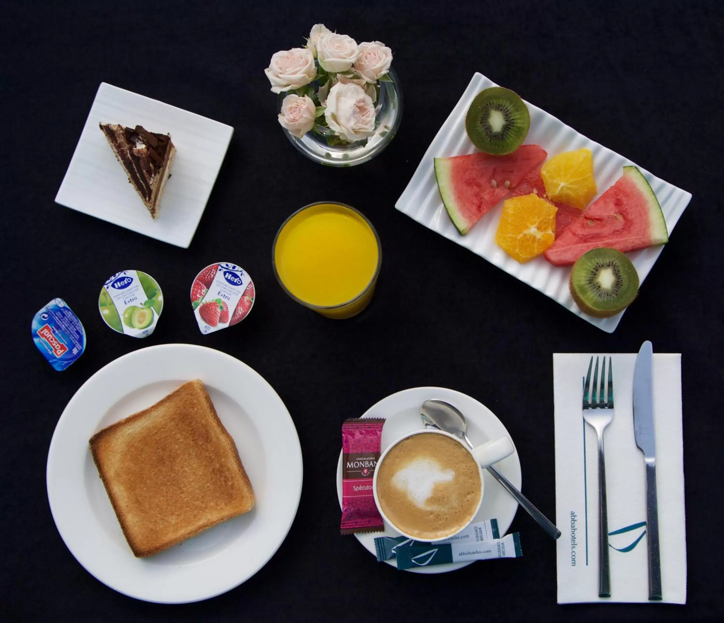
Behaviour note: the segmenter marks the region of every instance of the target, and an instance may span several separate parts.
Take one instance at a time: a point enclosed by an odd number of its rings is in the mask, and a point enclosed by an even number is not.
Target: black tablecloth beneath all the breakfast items
[[[0,216],[4,352],[0,474],[0,610],[12,620],[707,619],[720,603],[717,527],[724,469],[721,263],[721,3],[492,2],[430,4],[66,2],[6,4]],[[277,124],[264,67],[303,45],[316,22],[384,41],[405,94],[400,132],[363,166],[304,158]],[[694,198],[639,299],[606,334],[394,208],[427,145],[480,71]],[[235,127],[188,250],[54,203],[101,81]],[[271,270],[271,242],[316,200],[354,205],[374,222],[384,261],[371,307],[329,321],[292,302]],[[256,283],[240,326],[202,336],[190,279],[214,261]],[[103,281],[138,268],[164,289],[148,339],[104,326]],[[57,373],[28,324],[51,297],[85,323],[88,348]],[[378,564],[339,534],[334,470],[340,423],[392,392],[458,389],[487,404],[518,446],[524,491],[555,514],[553,352],[683,356],[689,604],[557,606],[555,545],[524,512],[523,559],[426,576]],[[243,585],[185,606],[127,598],[94,579],[51,517],[45,467],[65,404],[93,373],[152,344],[220,349],[258,370],[297,426],[304,458],[299,511],[277,554]]]

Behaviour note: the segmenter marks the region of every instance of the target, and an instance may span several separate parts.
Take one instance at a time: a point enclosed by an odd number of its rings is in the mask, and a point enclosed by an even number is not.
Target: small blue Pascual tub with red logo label
[[[33,316],[33,342],[56,370],[65,370],[85,350],[85,329],[62,299],[53,299]]]

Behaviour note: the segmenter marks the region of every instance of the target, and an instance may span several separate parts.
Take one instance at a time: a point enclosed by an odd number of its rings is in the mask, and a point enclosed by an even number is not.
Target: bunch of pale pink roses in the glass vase
[[[329,145],[367,140],[375,132],[380,82],[390,77],[392,50],[312,27],[303,48],[279,51],[264,69],[274,93],[287,93],[279,124],[301,138],[316,132]]]

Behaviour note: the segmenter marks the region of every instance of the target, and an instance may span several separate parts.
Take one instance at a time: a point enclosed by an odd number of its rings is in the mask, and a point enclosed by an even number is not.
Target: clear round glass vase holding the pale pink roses
[[[387,145],[400,127],[403,116],[403,92],[400,88],[400,80],[397,78],[394,69],[390,69],[392,82],[379,83],[379,99],[376,103],[375,131],[366,140],[355,141],[355,143],[338,143],[329,145],[327,138],[317,132],[307,132],[301,138],[284,130],[287,138],[307,158],[327,166],[355,166],[374,158]],[[278,108],[281,108],[282,100],[286,93],[279,94]],[[329,132],[327,128],[321,128],[322,132]]]

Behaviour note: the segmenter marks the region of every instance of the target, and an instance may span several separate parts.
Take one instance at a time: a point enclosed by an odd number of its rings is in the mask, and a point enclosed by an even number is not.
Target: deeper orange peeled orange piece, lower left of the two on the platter
[[[557,208],[538,195],[523,195],[502,204],[496,244],[511,258],[525,263],[540,255],[555,238]]]

